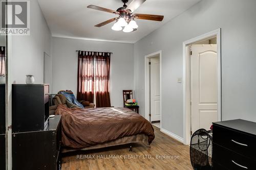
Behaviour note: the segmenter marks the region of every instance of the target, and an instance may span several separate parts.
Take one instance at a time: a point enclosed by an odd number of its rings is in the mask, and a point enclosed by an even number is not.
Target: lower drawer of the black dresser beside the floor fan
[[[218,163],[216,166],[223,166],[231,170],[255,169],[256,161],[248,159],[240,154],[234,153],[220,145],[214,143],[214,162]],[[216,169],[214,167],[214,169]]]

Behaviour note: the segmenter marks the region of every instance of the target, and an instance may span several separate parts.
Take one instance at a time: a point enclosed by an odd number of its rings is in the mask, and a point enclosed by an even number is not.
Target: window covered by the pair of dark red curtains
[[[110,53],[79,52],[77,99],[110,107]]]

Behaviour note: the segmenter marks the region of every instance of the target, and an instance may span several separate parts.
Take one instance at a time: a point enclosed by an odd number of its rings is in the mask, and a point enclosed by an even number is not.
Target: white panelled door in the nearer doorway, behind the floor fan
[[[191,45],[191,131],[218,121],[217,45]]]

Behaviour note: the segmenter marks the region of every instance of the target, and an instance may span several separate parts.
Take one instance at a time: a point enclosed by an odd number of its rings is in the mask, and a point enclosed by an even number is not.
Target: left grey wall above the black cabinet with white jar
[[[50,54],[51,32],[37,1],[30,1],[30,36],[12,36],[12,82],[25,83],[26,75],[35,75],[35,83],[44,82],[44,52]]]

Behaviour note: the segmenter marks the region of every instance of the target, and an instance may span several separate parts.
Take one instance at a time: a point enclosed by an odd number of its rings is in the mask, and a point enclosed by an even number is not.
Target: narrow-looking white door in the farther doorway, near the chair
[[[151,58],[151,121],[160,120],[160,58]]]

